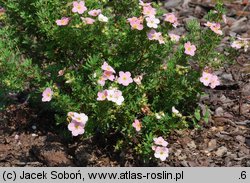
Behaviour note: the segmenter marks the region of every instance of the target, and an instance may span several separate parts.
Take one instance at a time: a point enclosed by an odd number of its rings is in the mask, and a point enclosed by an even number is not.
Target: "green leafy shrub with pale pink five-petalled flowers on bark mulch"
[[[39,80],[29,81],[37,86],[31,101],[46,102],[73,136],[115,132],[123,136],[116,150],[164,161],[168,143],[161,136],[188,127],[202,83],[219,85],[210,71],[219,66],[215,58],[223,62],[215,49],[221,5],[206,24],[188,22],[184,35],[172,32],[181,24],[175,12],[138,0],[4,6],[8,39],[39,68]]]

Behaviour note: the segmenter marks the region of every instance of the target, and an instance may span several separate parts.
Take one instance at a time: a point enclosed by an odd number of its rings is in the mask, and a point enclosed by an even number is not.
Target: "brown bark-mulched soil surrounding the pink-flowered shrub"
[[[168,0],[164,6],[178,12],[183,22],[193,18],[205,22],[203,17],[214,3]],[[226,6],[228,23],[223,25],[221,51],[229,45],[230,35],[250,37],[250,1],[227,1]],[[183,33],[185,27],[175,31]],[[209,123],[174,131],[168,139],[168,160],[147,166],[250,166],[250,52],[242,52],[235,64],[216,74],[222,85],[205,88],[207,96],[199,102],[211,109]],[[114,153],[103,138],[66,139],[55,131],[51,119],[51,114],[37,113],[21,102],[0,112],[0,166],[143,166],[131,154]]]

